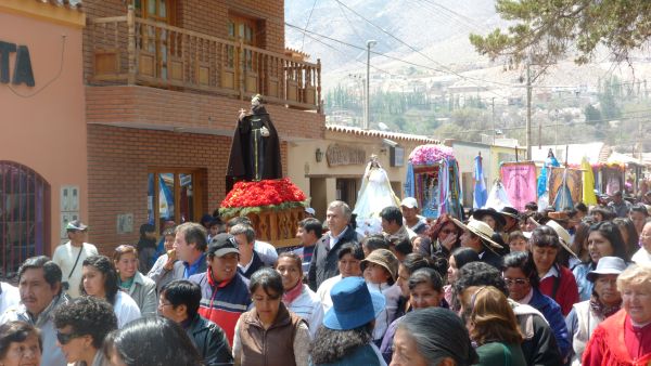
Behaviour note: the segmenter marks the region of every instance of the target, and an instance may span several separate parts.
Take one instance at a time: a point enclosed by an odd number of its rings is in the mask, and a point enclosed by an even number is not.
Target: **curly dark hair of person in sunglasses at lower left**
[[[91,336],[92,347],[102,348],[104,338],[117,329],[117,317],[113,306],[103,299],[79,297],[54,311],[56,328],[71,326],[75,336]]]

